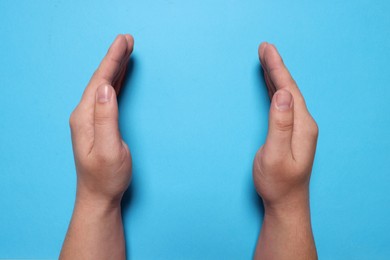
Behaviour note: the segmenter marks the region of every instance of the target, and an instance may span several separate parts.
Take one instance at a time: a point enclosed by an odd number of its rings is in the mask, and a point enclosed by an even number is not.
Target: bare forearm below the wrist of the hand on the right
[[[255,259],[317,259],[308,199],[275,210],[265,207]]]

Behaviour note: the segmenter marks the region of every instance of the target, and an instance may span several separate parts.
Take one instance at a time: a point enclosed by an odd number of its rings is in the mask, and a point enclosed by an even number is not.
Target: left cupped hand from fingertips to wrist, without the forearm
[[[134,40],[118,35],[70,117],[77,200],[118,205],[131,180],[131,155],[118,127],[117,94]]]

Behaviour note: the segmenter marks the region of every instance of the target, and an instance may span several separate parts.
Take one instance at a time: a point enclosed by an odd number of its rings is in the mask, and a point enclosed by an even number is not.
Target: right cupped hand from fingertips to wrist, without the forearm
[[[268,135],[254,160],[253,179],[265,214],[308,206],[318,127],[272,44],[259,47],[271,102]]]

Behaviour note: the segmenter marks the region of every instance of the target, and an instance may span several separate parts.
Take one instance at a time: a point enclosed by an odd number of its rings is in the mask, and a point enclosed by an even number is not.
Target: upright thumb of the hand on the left
[[[118,103],[115,90],[110,85],[101,85],[96,90],[94,131],[94,149],[99,154],[112,155],[122,146]]]

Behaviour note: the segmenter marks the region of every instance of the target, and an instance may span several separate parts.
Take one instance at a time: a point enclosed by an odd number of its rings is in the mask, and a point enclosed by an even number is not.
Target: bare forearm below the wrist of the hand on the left
[[[60,259],[125,259],[120,203],[77,199]]]

